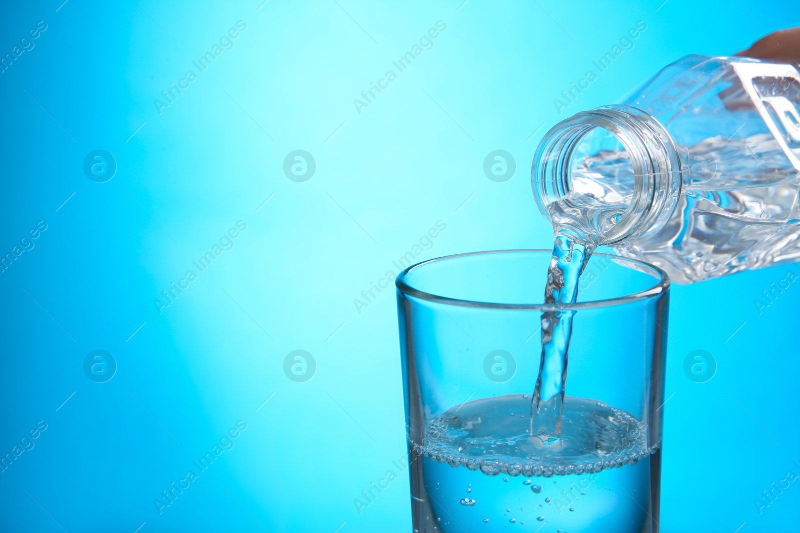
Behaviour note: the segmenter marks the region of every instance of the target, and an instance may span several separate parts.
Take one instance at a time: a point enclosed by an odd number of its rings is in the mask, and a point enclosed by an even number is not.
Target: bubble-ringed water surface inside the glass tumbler
[[[530,419],[510,416],[518,412],[521,403],[530,408],[530,400],[523,395],[509,395],[450,409],[430,420],[422,444],[411,441],[411,447],[452,467],[490,476],[506,474],[503,481],[518,475],[597,473],[635,464],[660,447],[660,443],[648,446],[646,424],[629,413],[597,400],[573,397],[567,397],[564,404],[562,421],[568,433],[562,434],[562,447],[537,446],[530,438]],[[534,493],[541,491],[541,486],[530,487]]]

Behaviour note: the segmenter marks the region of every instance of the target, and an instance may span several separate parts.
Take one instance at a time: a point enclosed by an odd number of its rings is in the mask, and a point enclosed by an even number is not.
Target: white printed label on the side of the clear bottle
[[[800,170],[800,74],[791,65],[730,63],[783,153]]]

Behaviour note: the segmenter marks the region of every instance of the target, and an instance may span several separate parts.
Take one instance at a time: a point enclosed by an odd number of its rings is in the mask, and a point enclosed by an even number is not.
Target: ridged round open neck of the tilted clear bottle
[[[556,233],[613,245],[646,238],[670,220],[681,176],[678,149],[654,117],[605,105],[575,113],[546,133],[531,181]]]

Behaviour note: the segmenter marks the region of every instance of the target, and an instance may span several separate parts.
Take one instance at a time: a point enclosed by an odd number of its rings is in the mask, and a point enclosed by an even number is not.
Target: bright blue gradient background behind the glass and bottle
[[[354,299],[437,221],[420,261],[549,247],[529,179],[546,129],[800,15],[753,0],[259,4],[3,9],[3,55],[46,30],[0,74],[0,252],[47,229],[0,274],[0,454],[47,428],[0,473],[2,531],[410,531],[405,472],[360,514],[353,503],[406,451],[394,292],[360,312]],[[398,73],[438,21],[434,48]],[[634,48],[559,115],[554,98],[637,21]],[[186,70],[198,78],[159,113]],[[106,183],[83,172],[95,149],[118,165]],[[283,171],[295,149],[316,161],[309,181]],[[482,170],[494,149],[517,163],[504,183]],[[159,312],[237,221],[234,248]],[[800,286],[754,304],[789,268],[673,288],[663,531],[800,531],[800,483],[761,514],[754,503],[800,475]],[[83,370],[98,349],[118,367],[102,384]],[[296,349],[316,362],[302,383],[283,370]],[[683,371],[697,349],[718,367],[706,383]],[[238,420],[234,447],[159,514],[154,500]]]

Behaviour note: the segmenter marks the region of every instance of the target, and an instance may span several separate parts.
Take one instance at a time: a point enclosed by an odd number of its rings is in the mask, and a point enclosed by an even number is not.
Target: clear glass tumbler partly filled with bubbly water
[[[670,281],[595,253],[578,303],[542,304],[550,257],[467,253],[397,278],[418,533],[658,531]],[[543,313],[573,318],[547,443],[531,424]]]

